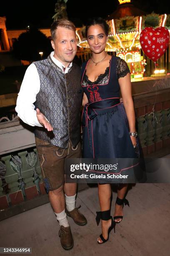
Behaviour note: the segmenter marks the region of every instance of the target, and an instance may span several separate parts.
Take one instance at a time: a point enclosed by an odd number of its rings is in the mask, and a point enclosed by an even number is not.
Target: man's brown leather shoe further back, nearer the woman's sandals
[[[74,208],[74,210],[72,210],[70,212],[67,211],[67,209],[65,209],[65,212],[66,212],[67,216],[71,217],[77,225],[84,226],[87,224],[87,220],[86,220],[85,216],[79,212],[78,209],[80,207],[81,207],[81,205],[79,207]]]

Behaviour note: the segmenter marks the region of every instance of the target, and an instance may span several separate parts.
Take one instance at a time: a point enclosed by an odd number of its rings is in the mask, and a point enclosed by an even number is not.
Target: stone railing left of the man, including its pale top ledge
[[[6,170],[3,179],[0,179],[2,213],[2,210],[10,206],[45,195],[46,191],[42,182],[33,128],[20,123],[20,120],[0,123],[0,141],[0,160]],[[28,152],[32,152],[35,159],[32,165],[28,162]],[[20,159],[18,172],[11,165],[12,156],[18,156]]]

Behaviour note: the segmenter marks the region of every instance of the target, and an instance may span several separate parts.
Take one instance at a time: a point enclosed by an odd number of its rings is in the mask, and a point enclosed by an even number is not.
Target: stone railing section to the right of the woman
[[[144,156],[170,154],[170,78],[133,82],[132,91]]]

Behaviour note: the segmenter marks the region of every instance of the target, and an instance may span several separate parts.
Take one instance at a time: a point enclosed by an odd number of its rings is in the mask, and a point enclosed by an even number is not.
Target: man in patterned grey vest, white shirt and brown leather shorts
[[[72,63],[77,51],[75,30],[69,20],[52,23],[54,51],[47,59],[28,67],[15,108],[25,123],[36,126],[35,141],[43,182],[60,224],[59,236],[65,250],[74,244],[66,213],[78,225],[87,224],[75,208],[77,184],[64,183],[65,159],[81,157],[80,68]]]

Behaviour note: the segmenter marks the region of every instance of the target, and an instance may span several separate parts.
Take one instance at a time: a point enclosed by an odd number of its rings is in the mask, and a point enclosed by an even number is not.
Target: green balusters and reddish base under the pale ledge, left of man
[[[37,154],[36,148],[33,149]],[[40,170],[40,164],[38,157],[35,166],[28,165],[26,161],[26,155],[28,151],[18,152],[18,156],[21,159],[21,175],[15,172],[10,164],[12,158],[11,155],[1,157],[1,160],[5,163],[5,185],[0,180],[0,209],[8,207],[9,205],[16,205],[25,200],[30,200],[40,194],[46,194],[44,185],[42,183],[42,176]],[[15,154],[16,156],[16,154]],[[35,178],[34,172],[36,170],[37,176]],[[24,182],[24,187],[21,186],[21,181]],[[4,185],[4,186],[3,186]],[[5,189],[3,189],[5,187]],[[4,191],[5,190],[5,191]]]

